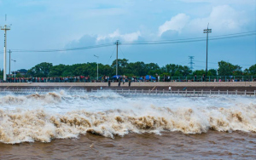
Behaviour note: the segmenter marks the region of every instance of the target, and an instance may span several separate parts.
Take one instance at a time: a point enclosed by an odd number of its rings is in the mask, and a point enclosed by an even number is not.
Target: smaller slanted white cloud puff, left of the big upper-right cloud
[[[159,27],[159,36],[163,34],[163,32],[168,30],[181,32],[183,27],[189,22],[189,16],[186,14],[177,14],[172,17],[171,20],[167,20],[162,26]]]

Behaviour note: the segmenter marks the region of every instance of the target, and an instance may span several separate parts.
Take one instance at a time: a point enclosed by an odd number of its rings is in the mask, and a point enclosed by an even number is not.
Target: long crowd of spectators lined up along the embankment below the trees
[[[256,81],[253,77],[206,77],[205,75],[197,77],[170,77],[155,74],[155,76],[147,75],[142,77],[123,76],[76,76],[76,77],[7,77],[4,82],[0,83],[96,83],[96,82],[246,82]]]

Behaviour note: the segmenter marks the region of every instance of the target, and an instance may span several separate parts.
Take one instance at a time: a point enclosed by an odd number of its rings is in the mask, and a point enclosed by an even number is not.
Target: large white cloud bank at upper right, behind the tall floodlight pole
[[[233,9],[229,5],[221,5],[213,7],[211,13],[204,18],[190,19],[189,15],[177,14],[159,27],[159,36],[166,31],[202,32],[208,23],[212,32],[218,34],[246,31],[248,23],[253,22],[253,18],[247,17],[245,13],[245,11]]]

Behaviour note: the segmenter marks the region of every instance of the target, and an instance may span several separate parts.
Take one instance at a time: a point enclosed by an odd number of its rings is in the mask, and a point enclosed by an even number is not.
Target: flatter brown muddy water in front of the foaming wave
[[[127,134],[114,139],[85,134],[49,143],[0,144],[1,159],[256,159],[256,134],[208,131]]]

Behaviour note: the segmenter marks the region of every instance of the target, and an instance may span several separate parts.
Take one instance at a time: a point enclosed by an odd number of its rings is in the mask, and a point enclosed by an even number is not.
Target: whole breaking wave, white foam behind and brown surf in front
[[[0,100],[0,141],[7,144],[50,142],[86,133],[114,138],[163,131],[201,134],[209,129],[256,132],[255,100],[249,98],[129,98],[62,92],[5,95]]]

